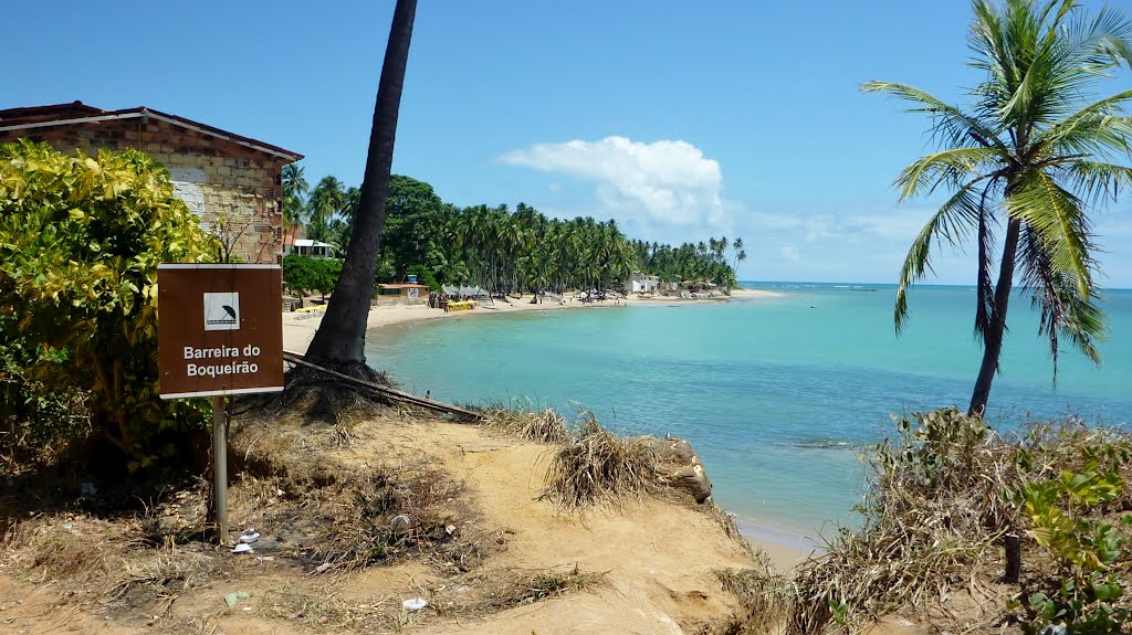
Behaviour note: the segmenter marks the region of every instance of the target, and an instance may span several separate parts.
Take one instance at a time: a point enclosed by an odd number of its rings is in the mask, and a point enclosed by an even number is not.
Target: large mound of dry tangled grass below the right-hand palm
[[[1006,440],[953,410],[914,417],[901,420],[899,438],[878,446],[871,462],[864,527],[840,529],[824,556],[781,581],[794,595],[789,633],[832,625],[858,632],[897,609],[944,629],[989,630],[1006,618],[1009,597],[1048,589],[1054,575],[1048,556],[1026,537],[1029,521],[1012,493],[1129,447],[1123,433],[1073,420]],[[1126,458],[1121,469],[1125,481],[1132,477]],[[1112,508],[1132,508],[1129,497],[1125,488]],[[1001,583],[1007,532],[1024,537],[1026,564],[1022,584],[1009,588]]]

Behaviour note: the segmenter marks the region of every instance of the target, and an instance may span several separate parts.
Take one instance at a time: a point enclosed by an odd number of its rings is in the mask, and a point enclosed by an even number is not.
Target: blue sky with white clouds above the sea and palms
[[[1087,2],[1096,9],[1100,2]],[[455,205],[616,218],[631,237],[743,236],[740,279],[894,281],[937,200],[897,205],[927,121],[871,79],[957,99],[969,5],[422,0],[395,172]],[[22,2],[5,10],[0,108],[149,106],[361,180],[393,2]],[[36,26],[38,25],[38,26]],[[1105,85],[1132,88],[1124,70]],[[1097,216],[1132,287],[1132,197]],[[937,278],[968,284],[970,254]]]

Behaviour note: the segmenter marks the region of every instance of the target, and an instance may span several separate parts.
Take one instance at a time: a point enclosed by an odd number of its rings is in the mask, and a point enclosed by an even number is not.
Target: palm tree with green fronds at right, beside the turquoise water
[[[1006,307],[1015,273],[1040,311],[1057,373],[1064,340],[1100,362],[1105,316],[1098,306],[1090,211],[1132,186],[1132,120],[1122,106],[1132,92],[1092,101],[1092,88],[1120,64],[1132,64],[1132,23],[1101,9],[1095,18],[1077,0],[975,0],[971,66],[985,73],[963,110],[906,86],[873,81],[932,118],[942,149],[897,179],[901,200],[937,189],[951,197],[916,237],[900,272],[899,333],[908,319],[908,287],[931,271],[933,243],[978,246],[975,331],[984,353],[969,410],[981,415],[998,371]],[[995,253],[997,229],[1005,227]],[[993,280],[997,256],[997,280]]]

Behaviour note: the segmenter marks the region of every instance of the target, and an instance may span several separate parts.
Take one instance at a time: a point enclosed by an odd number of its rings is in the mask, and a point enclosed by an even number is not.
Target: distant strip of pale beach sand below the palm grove
[[[767,298],[777,297],[779,294],[774,292],[762,292],[762,290],[749,290],[749,289],[736,289],[731,292],[735,298]],[[385,304],[378,305],[370,310],[369,312],[369,329],[377,329],[380,327],[388,327],[391,324],[401,324],[405,322],[415,322],[422,320],[445,320],[452,318],[474,318],[484,315],[499,315],[504,313],[516,313],[523,311],[609,311],[616,308],[635,307],[635,306],[667,306],[672,304],[703,304],[709,302],[721,302],[715,299],[678,299],[670,297],[658,297],[652,299],[642,299],[637,297],[620,298],[618,301],[604,301],[601,303],[586,304],[578,302],[574,296],[566,296],[566,303],[559,304],[552,301],[546,301],[540,304],[531,304],[531,296],[524,296],[522,299],[512,299],[509,303],[504,303],[496,301],[490,305],[478,306],[473,311],[460,311],[453,313],[445,313],[438,308],[429,308],[423,304],[417,305],[404,305],[404,304]],[[283,314],[283,348],[285,350],[292,350],[295,353],[303,353],[307,350],[307,346],[310,345],[311,338],[315,337],[315,331],[318,330],[318,325],[321,323],[323,316],[320,312],[310,313],[284,313]]]

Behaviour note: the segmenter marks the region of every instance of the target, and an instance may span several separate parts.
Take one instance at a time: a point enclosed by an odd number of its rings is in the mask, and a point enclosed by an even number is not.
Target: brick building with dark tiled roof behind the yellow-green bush
[[[142,150],[169,169],[178,197],[234,255],[283,258],[283,166],[300,154],[147,107],[103,111],[82,102],[0,111],[0,143],[20,138],[67,154]]]

